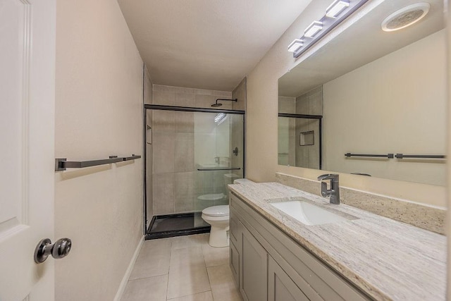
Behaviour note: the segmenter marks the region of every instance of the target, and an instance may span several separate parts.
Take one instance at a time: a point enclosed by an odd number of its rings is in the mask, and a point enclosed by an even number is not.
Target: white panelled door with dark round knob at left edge
[[[54,300],[55,0],[0,0],[0,300]]]

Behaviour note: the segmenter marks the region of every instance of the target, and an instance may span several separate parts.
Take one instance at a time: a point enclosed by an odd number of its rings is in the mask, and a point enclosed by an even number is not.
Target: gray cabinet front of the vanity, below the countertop
[[[230,269],[245,301],[371,297],[230,193]]]

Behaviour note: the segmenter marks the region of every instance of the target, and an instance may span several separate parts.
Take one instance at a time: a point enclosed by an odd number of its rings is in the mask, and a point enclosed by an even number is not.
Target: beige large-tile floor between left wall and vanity
[[[209,234],[146,240],[122,300],[241,301],[228,247],[210,247]]]

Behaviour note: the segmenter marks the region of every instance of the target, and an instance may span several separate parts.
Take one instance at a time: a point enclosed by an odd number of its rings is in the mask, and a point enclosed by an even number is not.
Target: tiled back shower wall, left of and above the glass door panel
[[[217,98],[231,99],[232,92],[154,85],[153,96],[154,104],[212,109]],[[233,109],[232,102],[222,103],[218,109]],[[194,113],[152,115],[153,214],[194,211]]]

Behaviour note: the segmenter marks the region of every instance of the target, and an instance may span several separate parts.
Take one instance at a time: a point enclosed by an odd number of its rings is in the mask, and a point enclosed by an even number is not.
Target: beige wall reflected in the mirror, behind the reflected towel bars
[[[344,156],[445,154],[445,51],[440,30],[324,84],[324,168],[445,185],[443,160]]]

